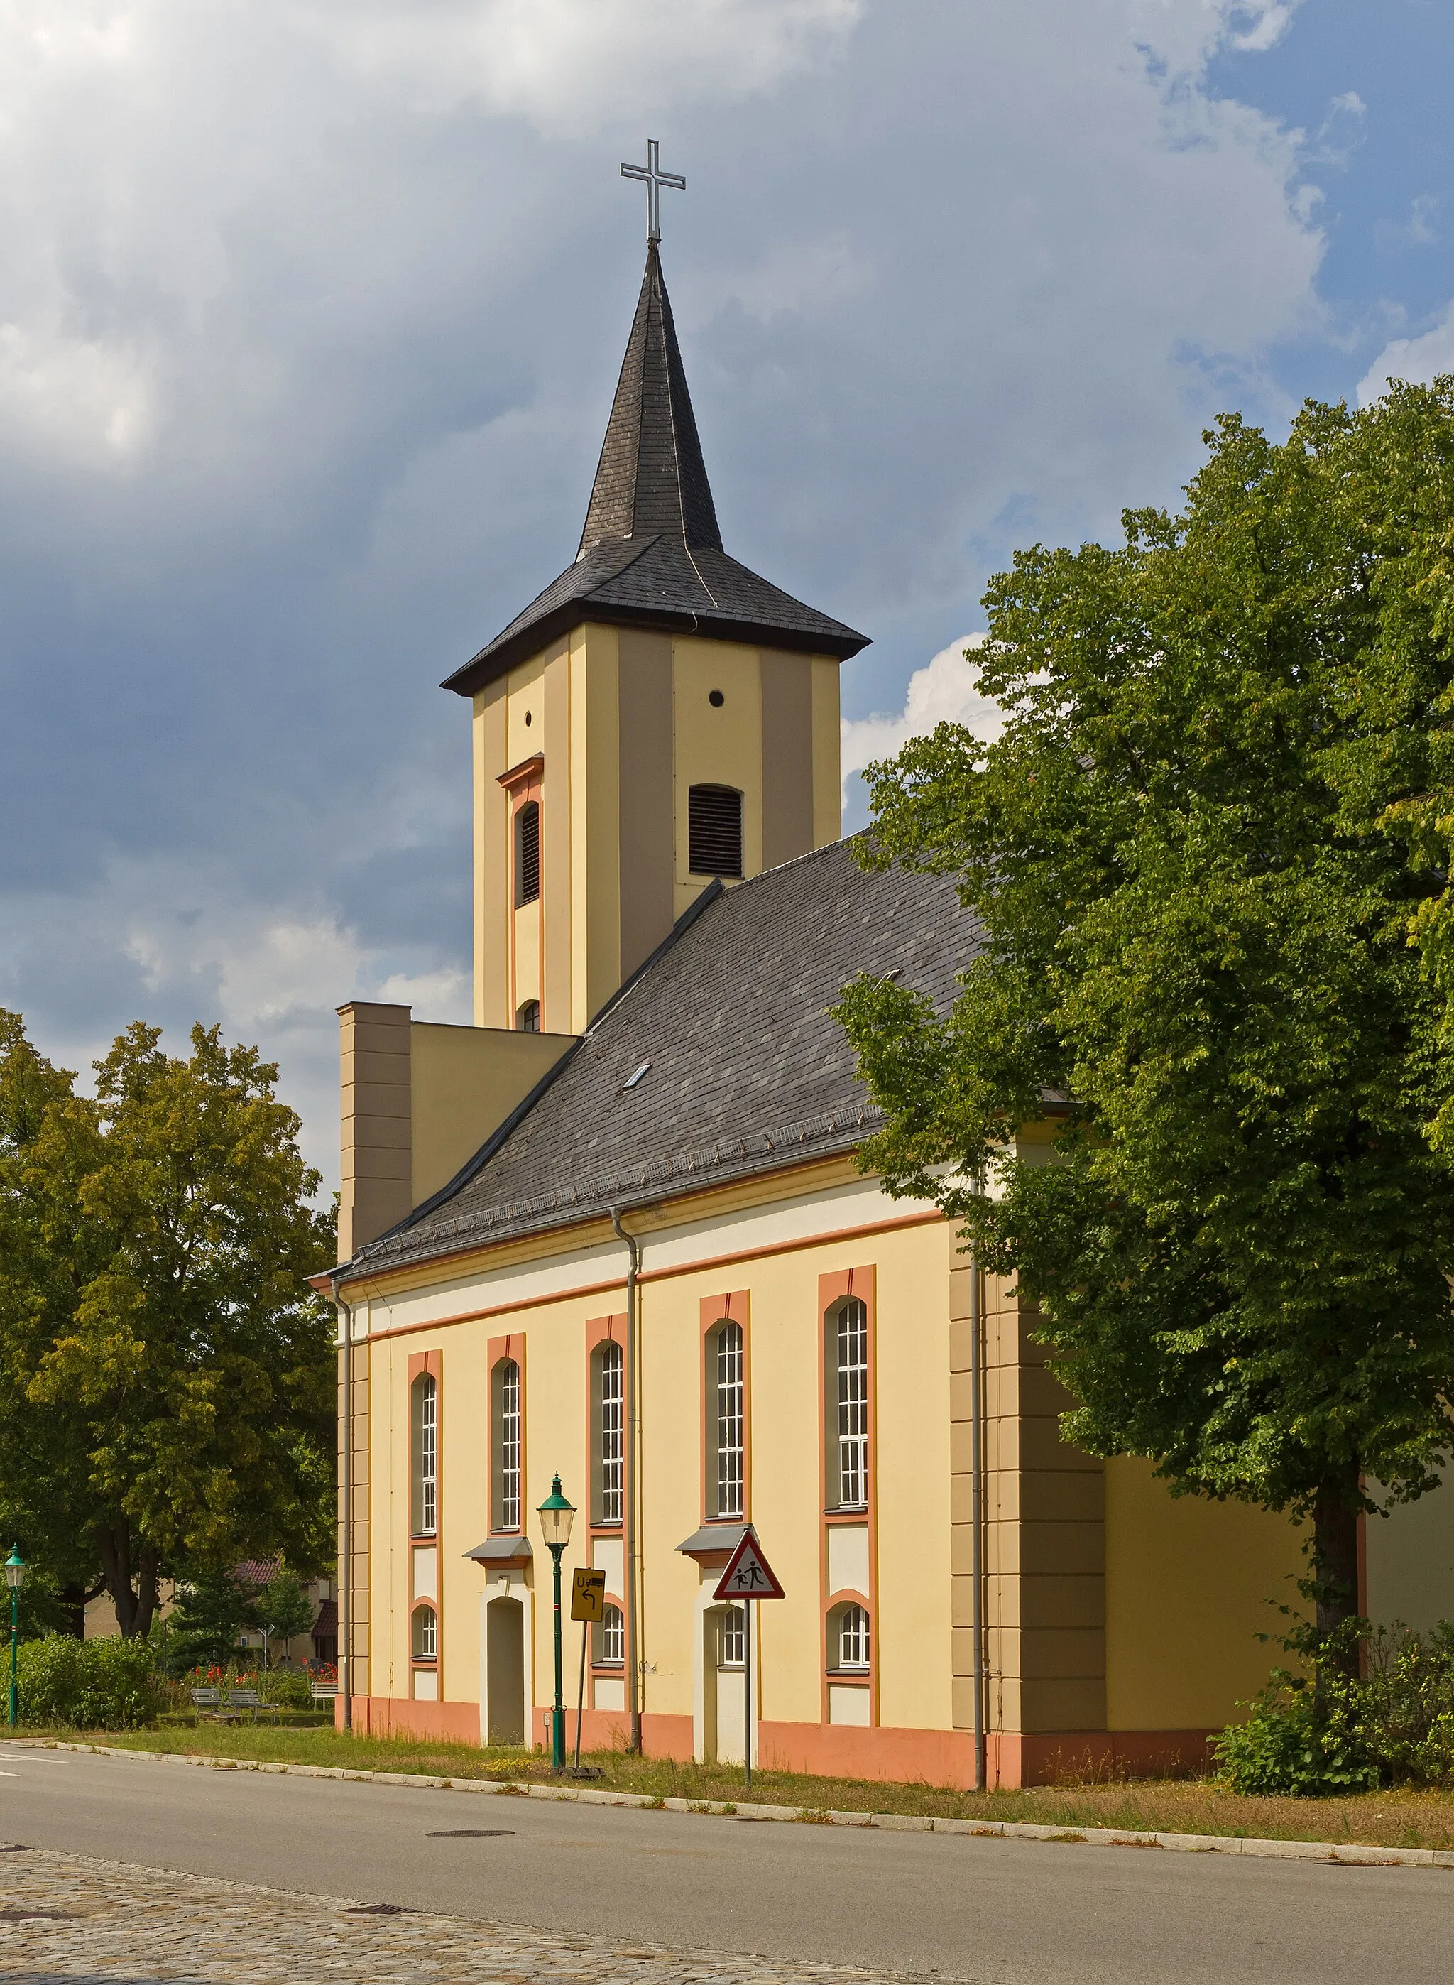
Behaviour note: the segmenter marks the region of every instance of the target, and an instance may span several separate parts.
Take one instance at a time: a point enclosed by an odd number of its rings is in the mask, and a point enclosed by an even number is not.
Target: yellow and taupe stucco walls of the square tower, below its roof
[[[542,905],[514,909],[500,776],[536,754]],[[740,788],[748,875],[837,840],[839,665],[587,621],[474,697],[476,1024],[512,1026],[526,998],[551,1032],[599,1012],[706,885],[694,784]]]

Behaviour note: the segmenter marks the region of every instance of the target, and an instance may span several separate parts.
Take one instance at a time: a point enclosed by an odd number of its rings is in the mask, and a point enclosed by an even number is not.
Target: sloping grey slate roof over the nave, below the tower
[[[851,1151],[879,1114],[827,1006],[859,973],[897,967],[944,1010],[976,949],[950,879],[865,873],[849,842],[712,883],[514,1118],[353,1268]]]

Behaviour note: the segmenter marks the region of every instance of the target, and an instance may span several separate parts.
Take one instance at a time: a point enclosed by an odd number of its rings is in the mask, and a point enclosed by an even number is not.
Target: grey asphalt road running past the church
[[[976,1985],[1454,1977],[1454,1872],[1436,1868],[784,1826],[10,1747],[0,1771],[0,1842],[486,1921]]]

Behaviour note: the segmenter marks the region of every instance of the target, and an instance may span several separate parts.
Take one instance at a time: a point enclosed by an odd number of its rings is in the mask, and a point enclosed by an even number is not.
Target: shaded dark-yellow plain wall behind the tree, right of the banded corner
[[[1113,1731],[1216,1729],[1281,1659],[1299,1534],[1246,1503],[1172,1497],[1149,1461],[1105,1463],[1105,1699]]]

